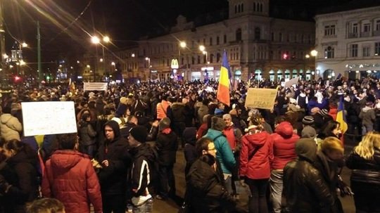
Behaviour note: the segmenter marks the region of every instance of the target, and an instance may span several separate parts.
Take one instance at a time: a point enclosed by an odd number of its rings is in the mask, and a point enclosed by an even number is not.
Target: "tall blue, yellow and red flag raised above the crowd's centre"
[[[229,106],[229,63],[227,53],[223,53],[222,67],[220,68],[219,85],[217,86],[217,100]]]

